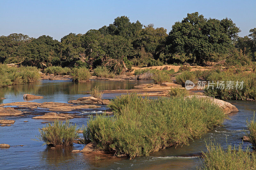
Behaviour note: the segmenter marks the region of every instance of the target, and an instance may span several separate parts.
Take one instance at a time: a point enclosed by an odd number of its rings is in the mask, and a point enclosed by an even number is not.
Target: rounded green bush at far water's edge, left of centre
[[[90,71],[85,67],[74,68],[71,75],[73,81],[89,81],[91,77]]]

